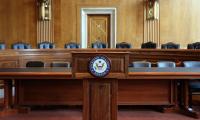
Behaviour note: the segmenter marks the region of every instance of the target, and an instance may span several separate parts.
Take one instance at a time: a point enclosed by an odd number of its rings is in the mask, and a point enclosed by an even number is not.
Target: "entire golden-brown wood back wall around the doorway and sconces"
[[[70,41],[80,42],[82,7],[117,8],[117,42],[140,48],[145,40],[144,0],[53,0],[54,37],[57,48]],[[200,0],[160,0],[160,43],[200,41]],[[14,42],[37,44],[36,0],[1,0],[0,42],[8,47]]]

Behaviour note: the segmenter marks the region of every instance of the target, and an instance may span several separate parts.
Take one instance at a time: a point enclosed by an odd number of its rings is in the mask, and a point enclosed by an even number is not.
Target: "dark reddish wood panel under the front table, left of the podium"
[[[21,105],[82,105],[82,81],[20,80],[18,84]]]

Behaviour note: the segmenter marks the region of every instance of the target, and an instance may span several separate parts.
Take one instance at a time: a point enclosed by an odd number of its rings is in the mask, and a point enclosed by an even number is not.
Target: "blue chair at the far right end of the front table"
[[[184,67],[200,68],[200,61],[184,61]],[[189,82],[189,107],[192,108],[192,95],[200,95],[200,80]]]

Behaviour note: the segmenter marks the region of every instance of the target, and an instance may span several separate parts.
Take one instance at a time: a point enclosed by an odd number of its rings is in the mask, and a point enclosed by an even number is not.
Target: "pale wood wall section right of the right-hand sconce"
[[[161,43],[188,43],[200,41],[199,0],[160,0]]]

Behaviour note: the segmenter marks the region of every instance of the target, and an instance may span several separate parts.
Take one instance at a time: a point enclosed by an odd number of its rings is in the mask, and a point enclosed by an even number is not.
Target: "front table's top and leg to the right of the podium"
[[[180,112],[185,115],[198,118],[198,114],[189,108],[189,81],[194,79],[200,79],[200,68],[129,68],[127,80],[173,80],[175,83],[177,80],[181,81],[181,90],[179,97],[182,97],[178,101],[177,86],[175,90],[175,107],[179,107]],[[176,109],[176,108],[175,108]]]

